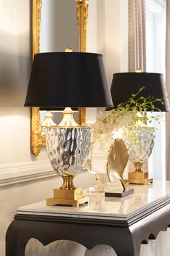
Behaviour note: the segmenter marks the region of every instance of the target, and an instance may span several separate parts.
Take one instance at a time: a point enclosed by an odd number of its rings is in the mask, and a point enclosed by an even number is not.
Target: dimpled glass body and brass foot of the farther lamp
[[[144,184],[153,183],[153,178],[148,178],[148,171],[142,169],[143,163],[148,160],[154,146],[155,132],[152,127],[124,128],[124,143],[127,146],[129,160],[135,170],[128,174],[125,183]]]

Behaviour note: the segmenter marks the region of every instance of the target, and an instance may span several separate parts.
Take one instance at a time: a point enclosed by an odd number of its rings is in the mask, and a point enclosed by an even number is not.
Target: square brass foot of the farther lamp
[[[148,178],[148,172],[131,172],[128,173],[128,179],[124,183],[148,185],[153,183],[153,178]]]

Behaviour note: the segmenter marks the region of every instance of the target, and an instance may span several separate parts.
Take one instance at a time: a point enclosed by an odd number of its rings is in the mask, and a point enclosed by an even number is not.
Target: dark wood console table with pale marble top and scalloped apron
[[[46,201],[19,207],[7,230],[6,256],[24,256],[30,238],[43,245],[72,240],[88,249],[108,244],[118,256],[139,256],[140,244],[170,225],[170,183],[133,187],[135,194],[123,199],[90,194],[90,204],[79,208]]]

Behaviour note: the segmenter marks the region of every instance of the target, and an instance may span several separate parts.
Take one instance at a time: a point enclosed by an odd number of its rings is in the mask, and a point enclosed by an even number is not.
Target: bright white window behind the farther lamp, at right
[[[147,72],[165,75],[166,2],[146,0],[146,67]],[[158,114],[154,114],[158,115]],[[165,118],[165,117],[164,117]],[[149,170],[156,180],[166,178],[166,127],[165,122],[153,123],[156,141],[149,160]]]

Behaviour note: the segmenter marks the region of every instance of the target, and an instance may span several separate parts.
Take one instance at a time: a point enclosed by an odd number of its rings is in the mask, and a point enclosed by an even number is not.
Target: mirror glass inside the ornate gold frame
[[[79,51],[77,11],[75,0],[43,0],[41,7],[40,52]],[[41,123],[45,110],[41,109]],[[52,112],[54,123],[59,123],[61,111]],[[75,111],[78,123],[78,111]]]

